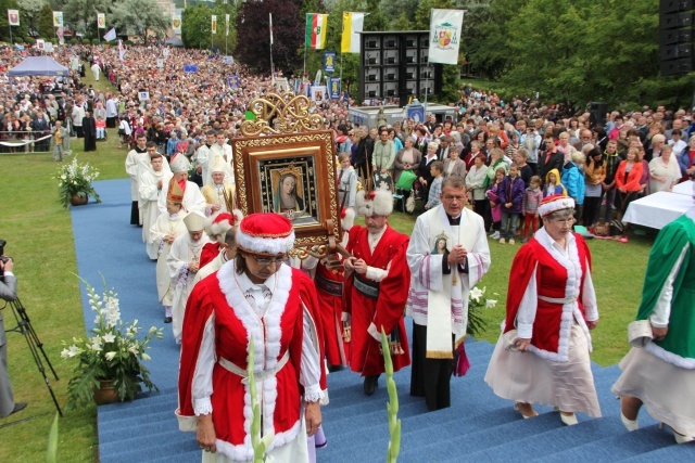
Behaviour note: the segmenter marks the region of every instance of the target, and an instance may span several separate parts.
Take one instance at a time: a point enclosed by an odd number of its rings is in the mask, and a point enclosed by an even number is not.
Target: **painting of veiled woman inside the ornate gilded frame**
[[[282,214],[294,226],[320,223],[313,156],[258,163],[264,211]]]

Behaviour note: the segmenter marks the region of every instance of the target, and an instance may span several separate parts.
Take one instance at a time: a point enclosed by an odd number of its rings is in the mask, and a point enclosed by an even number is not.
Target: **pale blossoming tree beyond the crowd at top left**
[[[111,15],[121,31],[132,30],[143,42],[148,33],[163,37],[170,25],[156,0],[123,0],[114,4]]]

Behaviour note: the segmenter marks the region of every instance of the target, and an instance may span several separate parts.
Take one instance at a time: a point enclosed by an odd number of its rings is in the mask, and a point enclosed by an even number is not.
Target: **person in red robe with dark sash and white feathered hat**
[[[345,319],[351,320],[350,368],[365,377],[371,396],[384,372],[381,330],[390,337],[393,370],[410,364],[404,309],[410,284],[405,252],[408,236],[393,230],[388,218],[393,197],[388,191],[357,193],[357,214],[366,227],[350,229],[345,259]]]

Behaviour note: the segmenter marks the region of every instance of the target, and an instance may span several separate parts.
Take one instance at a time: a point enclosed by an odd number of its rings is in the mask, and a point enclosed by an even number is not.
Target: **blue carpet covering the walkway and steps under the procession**
[[[99,408],[101,462],[200,462],[194,434],[180,433],[174,416],[179,349],[170,325],[163,324],[154,263],[146,255],[141,230],[128,224],[129,183],[100,181],[96,188],[103,204],[72,209],[79,274],[99,288],[101,272],[109,287],[118,292],[125,320],[137,318],[146,329],[165,326],[165,338],[152,345],[149,362],[160,394]],[[93,314],[84,290],[83,306],[89,327]],[[472,366],[465,377],[452,380],[454,407],[438,412],[428,413],[422,399],[409,397],[409,369],[396,373],[403,427],[400,462],[695,461],[695,446],[677,446],[644,411],[642,429],[626,432],[619,401],[610,394],[620,374],[615,365],[593,365],[603,419],[580,415],[580,424],[569,428],[541,407],[539,417],[522,420],[483,382],[492,350],[485,342],[467,344]],[[323,410],[328,447],[317,452],[318,461],[384,461],[389,434],[383,377],[372,397],[364,396],[362,378],[348,371],[329,376],[329,390],[330,404]]]

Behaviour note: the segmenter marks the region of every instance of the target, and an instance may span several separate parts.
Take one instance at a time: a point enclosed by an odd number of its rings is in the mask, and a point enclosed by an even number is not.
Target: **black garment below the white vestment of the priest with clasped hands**
[[[452,335],[452,353],[454,335]],[[413,365],[410,396],[425,397],[427,408],[434,411],[451,407],[450,381],[453,359],[428,359],[427,326],[413,323]]]

